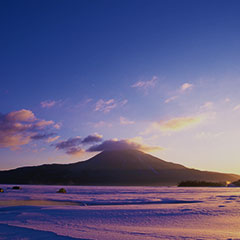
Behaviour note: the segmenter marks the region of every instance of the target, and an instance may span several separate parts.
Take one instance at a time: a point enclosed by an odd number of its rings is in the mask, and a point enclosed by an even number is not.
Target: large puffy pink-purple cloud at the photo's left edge
[[[32,111],[26,109],[0,114],[0,148],[15,150],[28,144],[34,136],[35,140],[43,138],[46,133],[41,131],[53,124],[53,121],[37,119]]]

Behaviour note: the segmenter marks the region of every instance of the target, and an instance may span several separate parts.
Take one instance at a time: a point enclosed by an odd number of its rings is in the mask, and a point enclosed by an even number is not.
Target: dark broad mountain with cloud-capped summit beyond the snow
[[[137,150],[104,151],[72,164],[0,171],[0,183],[71,185],[177,185],[181,181],[236,181],[240,176],[199,171]]]

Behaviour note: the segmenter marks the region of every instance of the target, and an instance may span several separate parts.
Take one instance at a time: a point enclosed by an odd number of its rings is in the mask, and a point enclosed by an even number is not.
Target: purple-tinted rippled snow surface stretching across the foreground
[[[0,187],[1,240],[240,239],[239,188]]]

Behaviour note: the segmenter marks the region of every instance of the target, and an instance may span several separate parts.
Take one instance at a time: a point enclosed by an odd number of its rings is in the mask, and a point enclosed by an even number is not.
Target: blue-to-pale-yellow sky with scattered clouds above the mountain
[[[0,1],[0,169],[136,149],[240,174],[240,2]]]

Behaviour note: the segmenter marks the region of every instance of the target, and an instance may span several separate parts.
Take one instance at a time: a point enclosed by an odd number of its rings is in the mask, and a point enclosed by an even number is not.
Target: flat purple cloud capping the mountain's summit
[[[101,144],[96,144],[87,149],[88,152],[100,152],[100,151],[113,151],[113,150],[139,150],[139,151],[153,151],[153,150],[162,150],[161,147],[152,147],[144,145],[138,142],[134,142],[130,139],[123,140],[106,140]]]

